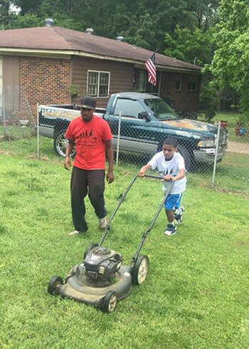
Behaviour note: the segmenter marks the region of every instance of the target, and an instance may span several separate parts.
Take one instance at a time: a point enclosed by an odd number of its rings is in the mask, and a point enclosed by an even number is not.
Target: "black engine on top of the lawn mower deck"
[[[122,255],[102,246],[95,246],[85,256],[85,276],[89,281],[111,283],[122,265]]]

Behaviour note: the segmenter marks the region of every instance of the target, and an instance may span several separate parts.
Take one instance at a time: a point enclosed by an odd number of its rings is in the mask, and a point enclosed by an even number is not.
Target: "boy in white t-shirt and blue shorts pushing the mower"
[[[175,138],[166,138],[163,143],[162,151],[154,155],[152,160],[142,167],[138,175],[144,177],[148,170],[154,170],[155,168],[157,168],[157,171],[164,181],[172,180],[175,182],[164,205],[166,217],[169,222],[164,234],[166,236],[171,236],[176,234],[177,231],[174,219],[176,219],[177,222],[182,221],[184,207],[180,207],[180,202],[182,193],[186,189],[184,158],[177,152],[177,140]],[[164,190],[166,187],[165,184],[163,186]]]

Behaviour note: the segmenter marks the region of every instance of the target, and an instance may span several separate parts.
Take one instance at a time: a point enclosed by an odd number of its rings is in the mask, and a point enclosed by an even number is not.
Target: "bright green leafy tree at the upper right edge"
[[[240,105],[249,112],[249,4],[245,0],[221,0],[211,70],[220,88],[233,88]]]

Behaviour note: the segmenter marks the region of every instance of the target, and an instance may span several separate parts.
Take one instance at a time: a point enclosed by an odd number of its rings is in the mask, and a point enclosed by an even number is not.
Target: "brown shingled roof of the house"
[[[81,31],[74,31],[58,26],[44,26],[36,28],[10,29],[0,31],[1,51],[60,51],[88,56],[100,56],[117,61],[132,61],[145,63],[152,56],[152,51],[140,48],[124,41],[117,41],[102,36],[90,35]],[[156,53],[156,66],[161,68],[181,69],[186,71],[200,71],[201,67],[191,63],[179,61]]]

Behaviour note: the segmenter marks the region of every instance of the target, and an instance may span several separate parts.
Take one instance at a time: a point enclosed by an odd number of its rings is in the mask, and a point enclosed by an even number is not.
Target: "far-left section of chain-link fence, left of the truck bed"
[[[6,86],[0,94],[1,142],[36,137],[36,123],[26,95],[19,86]]]

